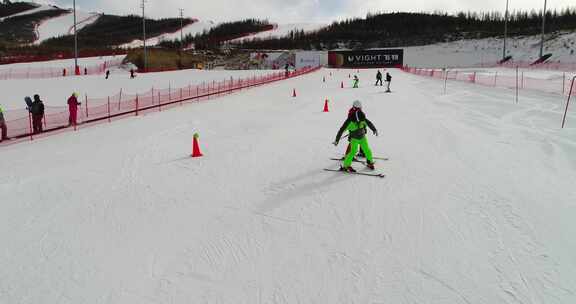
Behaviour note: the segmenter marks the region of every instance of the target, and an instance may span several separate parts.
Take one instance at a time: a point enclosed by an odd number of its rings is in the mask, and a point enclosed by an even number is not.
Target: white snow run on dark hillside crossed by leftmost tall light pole
[[[100,14],[98,13],[87,13],[82,11],[76,11],[77,29],[80,30],[83,27],[94,23],[98,20]],[[41,23],[36,29],[38,32],[38,40],[36,44],[42,43],[44,40],[59,37],[63,35],[74,34],[74,14],[70,12],[56,18],[51,18],[43,23]]]

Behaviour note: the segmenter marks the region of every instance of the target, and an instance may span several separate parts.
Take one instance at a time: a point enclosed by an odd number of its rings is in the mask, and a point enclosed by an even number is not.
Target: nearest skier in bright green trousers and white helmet
[[[374,170],[374,159],[372,158],[372,150],[368,146],[368,139],[366,138],[366,127],[370,128],[374,135],[378,136],[378,130],[374,124],[366,118],[366,114],[362,112],[362,103],[359,100],[354,101],[353,108],[348,114],[348,119],[344,122],[338,134],[336,135],[336,140],[334,145],[337,146],[342,138],[344,131],[348,130],[350,136],[350,151],[346,154],[344,158],[344,163],[340,167],[340,170],[347,172],[356,172],[352,168],[352,161],[354,156],[358,153],[358,148],[362,147],[362,151],[366,155],[366,166],[371,170]]]

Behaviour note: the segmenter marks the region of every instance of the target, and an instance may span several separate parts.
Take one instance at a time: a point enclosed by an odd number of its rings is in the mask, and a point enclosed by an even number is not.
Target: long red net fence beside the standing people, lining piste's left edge
[[[319,70],[320,67],[306,67],[286,75],[285,72],[275,72],[264,76],[253,76],[240,79],[230,78],[223,81],[203,82],[196,86],[181,88],[155,89],[143,94],[126,94],[122,90],[114,96],[92,98],[88,95],[78,99],[82,105],[78,108],[78,125],[96,122],[111,122],[121,116],[138,116],[140,114],[162,111],[184,102],[210,99],[213,96],[231,94],[242,89],[248,89],[289,78],[298,77]],[[8,127],[9,141],[7,145],[25,140],[34,140],[38,136],[46,136],[66,129],[77,129],[77,125],[69,125],[68,107],[46,107],[42,121],[44,132],[33,134],[31,115],[27,109],[8,110],[4,112]]]

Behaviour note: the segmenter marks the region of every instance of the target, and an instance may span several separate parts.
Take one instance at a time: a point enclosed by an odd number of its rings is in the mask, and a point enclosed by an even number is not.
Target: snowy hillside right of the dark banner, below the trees
[[[576,62],[576,32],[551,34],[545,53],[552,53],[550,61]],[[540,52],[540,36],[516,37],[508,41],[508,54],[515,61],[534,62]],[[503,40],[487,38],[460,40],[434,45],[407,47],[405,64],[416,67],[467,67],[493,64],[502,59]]]

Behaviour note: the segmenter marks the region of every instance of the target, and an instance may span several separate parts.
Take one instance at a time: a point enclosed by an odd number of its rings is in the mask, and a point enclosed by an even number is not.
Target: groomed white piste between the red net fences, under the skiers
[[[574,110],[389,72],[2,147],[0,303],[575,303]],[[384,179],[323,171],[355,99]]]

